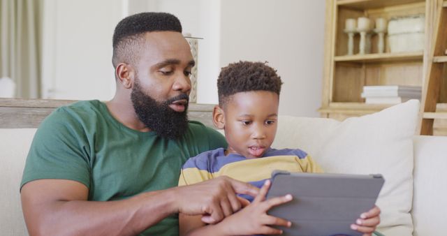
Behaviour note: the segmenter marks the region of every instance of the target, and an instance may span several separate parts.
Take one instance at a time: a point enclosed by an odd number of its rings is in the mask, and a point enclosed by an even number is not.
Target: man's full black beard
[[[138,119],[163,138],[173,140],[182,137],[188,128],[188,103],[184,105],[183,112],[176,112],[169,105],[181,99],[189,101],[189,96],[180,94],[160,103],[142,91],[138,79],[134,85],[131,100]]]

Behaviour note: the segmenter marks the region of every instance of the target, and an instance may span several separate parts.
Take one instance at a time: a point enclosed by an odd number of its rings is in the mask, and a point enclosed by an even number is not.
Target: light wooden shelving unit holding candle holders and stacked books
[[[347,117],[377,112],[390,105],[365,104],[360,96],[365,85],[424,86],[428,69],[428,54],[432,47],[433,24],[436,20],[437,1],[441,0],[326,0],[325,61],[323,72],[323,101],[319,112],[322,117],[346,119]],[[439,5],[439,4],[438,4]],[[354,54],[347,55],[348,36],[344,33],[347,18],[369,17],[374,21],[383,17],[387,22],[393,17],[425,15],[425,45],[423,51],[392,53],[386,35],[385,52],[378,53],[378,36],[371,39],[371,53],[358,54],[360,37],[354,38]],[[437,56],[433,62],[447,62],[446,56]],[[446,78],[444,78],[446,80]],[[447,112],[446,91],[439,96],[439,117]],[[437,118],[434,118],[437,119]],[[447,135],[447,123],[434,122],[435,134]]]

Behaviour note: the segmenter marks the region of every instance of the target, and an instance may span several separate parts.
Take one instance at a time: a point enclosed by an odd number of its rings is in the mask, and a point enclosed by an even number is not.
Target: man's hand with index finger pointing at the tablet
[[[187,215],[204,215],[202,220],[205,223],[217,223],[246,205],[247,200],[238,198],[236,193],[253,197],[259,193],[255,186],[225,176],[181,186],[175,191],[178,211]]]

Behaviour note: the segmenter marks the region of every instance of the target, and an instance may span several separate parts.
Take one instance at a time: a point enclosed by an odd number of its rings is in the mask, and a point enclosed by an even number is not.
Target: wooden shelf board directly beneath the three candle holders
[[[423,60],[423,52],[375,53],[334,57],[334,61],[380,62],[380,61],[416,61]]]

